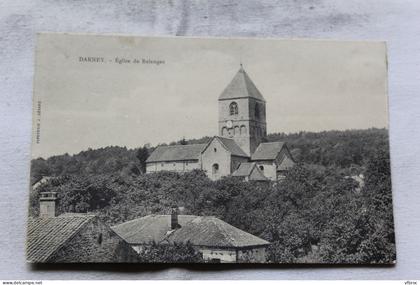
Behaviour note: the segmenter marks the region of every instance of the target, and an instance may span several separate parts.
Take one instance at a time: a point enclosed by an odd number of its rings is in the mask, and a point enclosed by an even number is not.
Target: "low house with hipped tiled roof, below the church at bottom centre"
[[[209,262],[266,262],[269,242],[213,216],[149,215],[112,227],[138,253],[152,244],[190,242]]]

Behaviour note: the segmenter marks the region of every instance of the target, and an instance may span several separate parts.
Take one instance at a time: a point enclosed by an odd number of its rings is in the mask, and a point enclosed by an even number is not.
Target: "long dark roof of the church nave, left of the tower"
[[[146,162],[198,160],[207,144],[158,146]]]

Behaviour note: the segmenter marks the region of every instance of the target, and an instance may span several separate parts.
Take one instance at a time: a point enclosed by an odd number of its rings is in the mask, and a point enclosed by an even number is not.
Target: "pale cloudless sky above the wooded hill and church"
[[[39,34],[32,157],[217,135],[240,63],[268,133],[388,127],[384,42]]]

